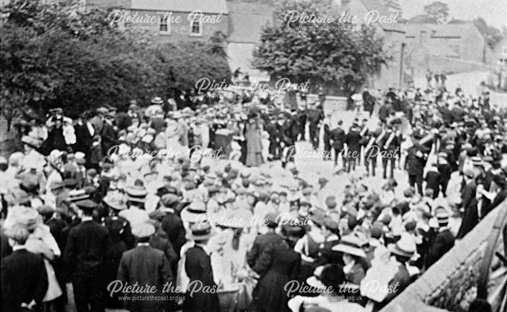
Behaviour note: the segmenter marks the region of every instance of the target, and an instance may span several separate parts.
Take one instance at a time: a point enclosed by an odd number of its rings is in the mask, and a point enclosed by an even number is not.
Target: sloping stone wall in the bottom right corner
[[[502,252],[503,245],[496,241],[496,237],[499,232],[505,231],[506,217],[507,201],[504,201],[381,312],[465,312],[468,304],[486,286],[493,311],[500,312],[501,298],[491,297],[494,295],[492,288],[502,285],[481,282],[486,282],[485,276],[493,266],[490,262],[491,258],[496,258],[493,253]],[[499,279],[500,283],[504,283],[504,278]]]

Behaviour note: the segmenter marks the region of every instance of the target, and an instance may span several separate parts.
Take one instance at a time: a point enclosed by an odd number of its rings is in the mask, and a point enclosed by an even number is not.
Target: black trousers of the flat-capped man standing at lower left
[[[98,270],[75,273],[72,286],[74,287],[74,301],[78,312],[104,312],[102,302],[103,285]]]

